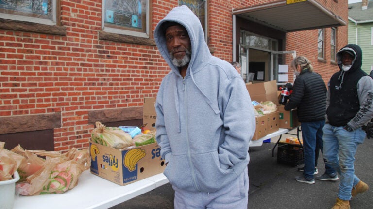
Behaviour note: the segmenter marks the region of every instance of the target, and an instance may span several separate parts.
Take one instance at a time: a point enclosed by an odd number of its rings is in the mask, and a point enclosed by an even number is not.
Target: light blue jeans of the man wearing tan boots
[[[348,132],[342,126],[330,124],[326,124],[323,131],[326,164],[331,165],[340,175],[338,197],[350,200],[353,186],[360,181],[354,168],[356,149],[357,145],[364,142],[366,133],[361,128]]]

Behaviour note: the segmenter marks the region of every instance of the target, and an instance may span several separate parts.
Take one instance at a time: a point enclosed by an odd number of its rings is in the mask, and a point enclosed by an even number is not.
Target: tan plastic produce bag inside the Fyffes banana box
[[[96,122],[91,136],[93,142],[112,148],[123,149],[135,145],[130,134],[117,127],[106,127],[101,122]]]

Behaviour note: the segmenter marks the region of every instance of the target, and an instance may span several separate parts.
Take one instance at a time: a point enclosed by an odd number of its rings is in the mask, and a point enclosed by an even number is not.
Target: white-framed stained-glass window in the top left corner
[[[35,1],[28,1],[24,2],[24,5],[14,5],[15,1],[7,1],[5,4],[3,1],[1,3],[3,4],[3,7],[1,7],[0,4],[0,18],[3,19],[10,19],[10,20],[17,20],[17,21],[24,21],[24,22],[33,22],[33,23],[40,23],[45,25],[56,25],[56,19],[57,19],[57,0],[35,0]],[[48,9],[48,3],[51,3],[51,17],[46,18],[38,16],[38,13],[33,13],[32,9],[33,7],[36,7],[34,4],[38,3],[38,7],[42,9],[42,11],[47,11]],[[29,5],[26,5],[25,3],[29,3]],[[24,8],[22,8],[24,7]],[[23,15],[22,15],[23,14]]]

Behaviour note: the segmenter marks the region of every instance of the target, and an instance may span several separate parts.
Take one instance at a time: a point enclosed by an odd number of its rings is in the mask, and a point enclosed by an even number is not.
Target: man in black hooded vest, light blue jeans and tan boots
[[[337,60],[339,72],[328,83],[323,155],[341,177],[332,209],[349,209],[349,200],[369,188],[355,175],[354,162],[357,145],[366,137],[362,126],[373,117],[373,80],[361,70],[358,45],[344,46],[337,52]]]

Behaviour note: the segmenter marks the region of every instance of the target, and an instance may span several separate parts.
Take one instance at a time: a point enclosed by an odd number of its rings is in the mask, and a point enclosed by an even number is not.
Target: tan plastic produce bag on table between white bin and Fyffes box
[[[64,193],[78,184],[80,174],[91,164],[88,149],[70,149],[64,154],[43,150],[30,150],[46,156],[42,169],[16,184],[16,193],[24,196]],[[58,155],[58,156],[56,156]]]

